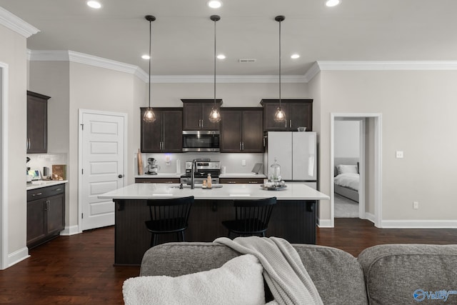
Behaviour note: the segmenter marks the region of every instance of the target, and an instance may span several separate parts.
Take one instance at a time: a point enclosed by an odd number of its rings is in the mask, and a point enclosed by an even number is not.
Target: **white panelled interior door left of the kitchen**
[[[114,202],[99,194],[124,186],[124,115],[81,112],[81,230],[114,225]]]

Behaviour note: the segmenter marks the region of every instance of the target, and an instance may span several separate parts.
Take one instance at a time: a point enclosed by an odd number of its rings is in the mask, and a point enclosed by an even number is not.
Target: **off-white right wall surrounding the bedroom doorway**
[[[456,225],[457,71],[321,71],[321,191],[330,190],[331,112],[383,116],[383,223]],[[403,159],[395,152],[404,151]],[[419,209],[413,209],[413,201]],[[321,219],[329,219],[321,201]]]

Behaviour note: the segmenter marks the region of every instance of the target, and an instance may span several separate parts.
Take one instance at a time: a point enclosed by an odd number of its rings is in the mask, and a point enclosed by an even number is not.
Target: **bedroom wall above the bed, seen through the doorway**
[[[335,158],[360,157],[360,121],[335,121]]]

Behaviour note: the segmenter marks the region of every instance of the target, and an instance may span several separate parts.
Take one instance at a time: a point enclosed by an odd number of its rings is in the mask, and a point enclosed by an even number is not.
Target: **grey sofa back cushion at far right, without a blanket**
[[[457,245],[378,245],[358,261],[369,304],[457,304]]]

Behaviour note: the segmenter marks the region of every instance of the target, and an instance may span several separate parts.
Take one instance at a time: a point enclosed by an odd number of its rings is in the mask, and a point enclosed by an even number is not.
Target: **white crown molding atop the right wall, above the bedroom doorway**
[[[321,71],[455,71],[457,61],[316,61]]]

